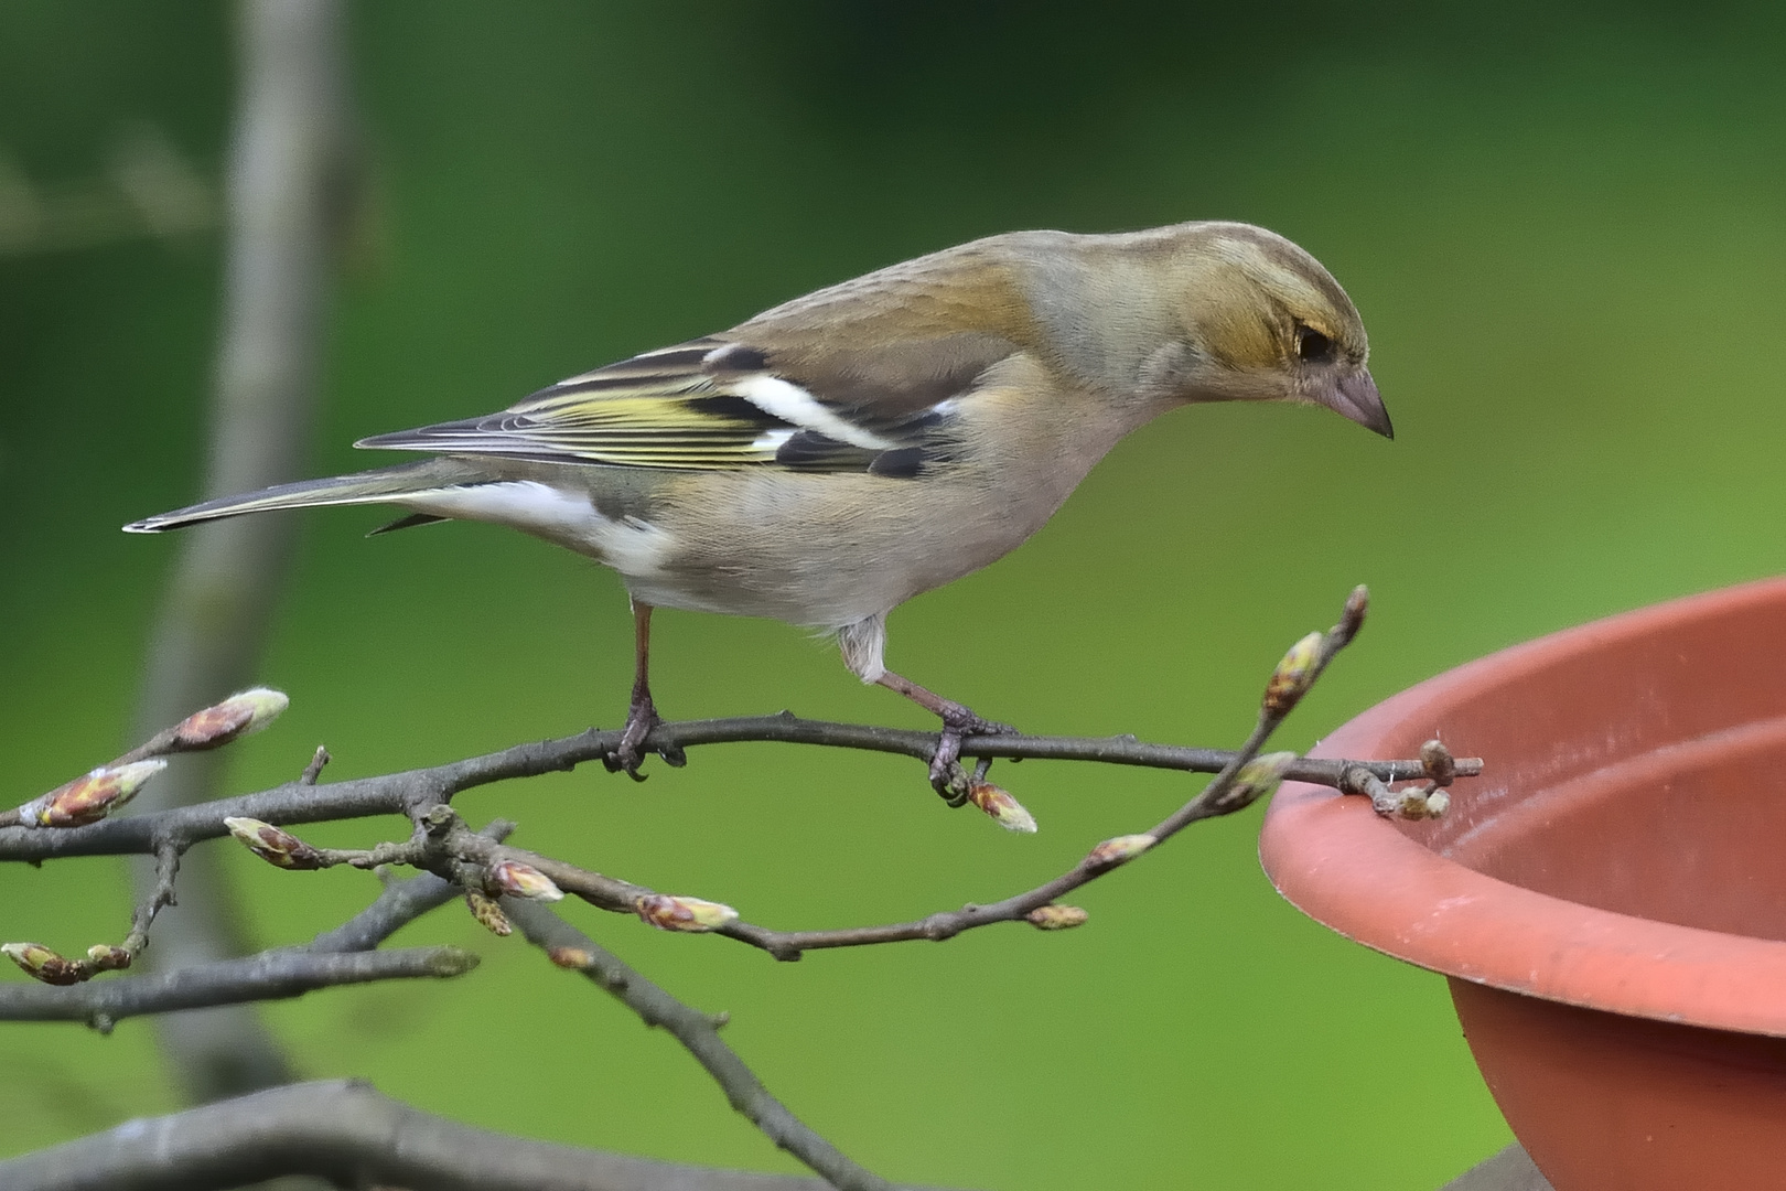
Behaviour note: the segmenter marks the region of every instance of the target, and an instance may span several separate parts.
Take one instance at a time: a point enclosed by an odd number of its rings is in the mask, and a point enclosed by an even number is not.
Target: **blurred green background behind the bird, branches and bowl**
[[[1186,409],[1136,434],[1027,546],[893,618],[891,664],[1038,732],[1222,745],[1264,673],[1368,582],[1357,646],[1289,721],[1314,737],[1547,630],[1782,570],[1786,21],[1779,5],[1293,0],[525,4],[354,11],[377,211],[339,286],[314,473],[355,437],[486,412],[791,295],[1018,227],[1238,218],[1348,287],[1395,416]],[[214,4],[0,4],[0,152],[43,193],[132,127],[218,177],[232,96]],[[61,189],[57,189],[61,187]],[[0,755],[25,800],[123,725],[170,539],[196,498],[216,234],[0,257]],[[293,696],[230,787],[616,725],[616,579],[486,527],[389,539],[304,514],[266,682]],[[672,716],[925,725],[798,630],[666,612]],[[755,921],[827,927],[988,900],[1188,796],[1173,775],[997,773],[1041,834],[950,814],[913,762],[713,748],[647,786],[600,768],[461,800],[518,841]],[[1259,812],[1088,889],[1089,927],[775,964],[570,914],[707,1011],[873,1170],[961,1187],[1423,1191],[1506,1143],[1443,984],[1279,902]],[[370,843],[395,823],[316,830]],[[259,941],[375,893],[239,857]],[[123,868],[0,870],[0,936],[121,936]],[[466,1121],[793,1170],[666,1037],[452,909],[409,941],[450,984],[268,1016],[305,1075]],[[0,979],[23,979],[20,973]],[[146,1023],[9,1027],[0,1152],[173,1107]]]

